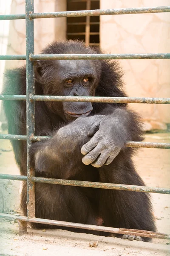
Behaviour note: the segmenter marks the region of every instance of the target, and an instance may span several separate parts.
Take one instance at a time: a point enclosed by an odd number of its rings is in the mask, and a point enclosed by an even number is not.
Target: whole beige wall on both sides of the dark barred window
[[[169,0],[100,0],[100,9],[166,6]],[[35,12],[65,11],[66,0],[36,0]],[[12,0],[11,14],[25,13],[25,0]],[[35,19],[35,53],[54,39],[65,39],[66,18]],[[100,16],[100,42],[108,53],[170,52],[170,14]],[[25,20],[11,20],[7,52],[25,54]],[[5,68],[25,61],[6,61]],[[131,97],[170,97],[170,60],[122,60],[126,91]],[[3,70],[1,70],[3,73]],[[132,104],[147,129],[166,129],[169,105]]]

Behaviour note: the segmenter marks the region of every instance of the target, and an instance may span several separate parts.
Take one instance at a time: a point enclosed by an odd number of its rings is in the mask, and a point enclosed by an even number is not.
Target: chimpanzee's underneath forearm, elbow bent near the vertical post
[[[88,131],[103,117],[79,118],[60,128],[50,140],[34,143],[30,149],[31,165],[39,172],[51,173],[59,178],[74,175],[72,163],[76,166],[81,162],[80,148],[90,140]]]

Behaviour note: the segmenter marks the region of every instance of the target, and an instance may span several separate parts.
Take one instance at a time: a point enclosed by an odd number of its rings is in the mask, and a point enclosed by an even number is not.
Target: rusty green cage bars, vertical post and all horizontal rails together
[[[34,54],[34,19],[50,17],[82,17],[98,15],[122,15],[170,12],[170,6],[142,7],[127,9],[108,9],[108,10],[86,10],[71,12],[51,12],[34,13],[34,0],[26,0],[26,15],[0,15],[0,20],[26,19],[26,55],[0,55],[0,60],[26,60],[26,95],[0,95],[2,100],[24,100],[26,101],[27,114],[27,135],[0,134],[0,139],[7,140],[27,140],[27,176],[22,175],[4,175],[0,174],[0,179],[25,180],[27,181],[27,217],[17,217],[19,233],[27,232],[26,222],[37,222],[44,224],[53,224],[63,227],[77,227],[88,230],[101,230],[111,233],[133,234],[138,236],[169,239],[167,234],[150,232],[146,230],[118,229],[113,227],[100,227],[87,224],[71,223],[66,221],[54,221],[35,218],[35,191],[34,184],[37,182],[62,184],[69,186],[84,186],[100,189],[118,189],[136,192],[153,192],[170,194],[170,189],[154,188],[148,186],[134,186],[125,184],[99,183],[80,180],[62,180],[43,177],[34,177],[34,170],[30,169],[29,148],[32,141],[47,140],[49,137],[34,136],[34,102],[35,101],[72,101],[72,102],[108,102],[108,103],[148,103],[148,104],[170,104],[170,98],[127,98],[127,97],[71,97],[71,96],[40,96],[34,95],[34,60],[55,60],[55,59],[169,59],[170,53],[148,53],[148,54],[60,54],[60,55],[35,55]],[[170,148],[170,143],[150,143],[150,142],[127,142],[127,147],[144,148]],[[0,214],[0,217],[16,218],[13,215]]]

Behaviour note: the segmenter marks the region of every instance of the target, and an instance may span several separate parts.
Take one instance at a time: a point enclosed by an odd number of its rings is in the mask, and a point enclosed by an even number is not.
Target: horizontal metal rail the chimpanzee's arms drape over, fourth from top
[[[32,141],[47,140],[51,137],[48,136],[32,136]],[[0,134],[0,140],[26,140],[26,135],[15,135],[15,134]],[[126,147],[133,148],[162,148],[170,149],[170,143],[156,143],[156,142],[138,142],[129,141],[125,143]]]

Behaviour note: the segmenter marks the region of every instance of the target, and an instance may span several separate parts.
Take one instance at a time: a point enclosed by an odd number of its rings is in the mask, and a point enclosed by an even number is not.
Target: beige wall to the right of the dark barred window
[[[100,9],[167,6],[169,0],[100,0]],[[101,47],[108,53],[170,52],[170,14],[100,16]],[[170,60],[122,60],[131,97],[170,97]],[[166,128],[169,105],[131,104],[147,129]]]

